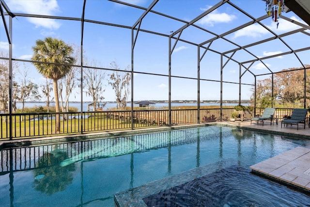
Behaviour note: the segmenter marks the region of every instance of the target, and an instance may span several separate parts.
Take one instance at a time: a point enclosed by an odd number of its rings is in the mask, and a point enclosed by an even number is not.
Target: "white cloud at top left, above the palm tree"
[[[10,0],[8,6],[14,8],[15,12],[35,15],[53,16],[59,12],[57,0]],[[60,23],[55,19],[47,18],[28,18],[35,27],[44,27],[48,29],[58,29]]]

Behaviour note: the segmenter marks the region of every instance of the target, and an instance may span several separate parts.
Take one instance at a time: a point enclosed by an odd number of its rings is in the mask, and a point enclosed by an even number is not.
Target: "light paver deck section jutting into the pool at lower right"
[[[252,172],[310,191],[310,148],[296,147],[250,166]]]

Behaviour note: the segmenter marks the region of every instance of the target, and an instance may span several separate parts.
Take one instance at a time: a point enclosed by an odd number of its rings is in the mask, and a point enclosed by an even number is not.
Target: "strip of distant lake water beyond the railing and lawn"
[[[84,102],[83,103],[83,111],[87,111],[88,109],[88,104],[90,104],[91,102]],[[130,102],[127,103],[127,106],[130,106]],[[220,104],[219,103],[201,103],[200,104],[201,106],[219,106]],[[223,103],[223,106],[236,106],[237,104],[236,103]],[[244,106],[248,106],[250,104],[242,104]],[[39,107],[39,106],[46,106],[46,103],[44,102],[36,102],[36,103],[25,103],[25,107],[27,108],[32,108],[32,107]],[[55,106],[55,103],[52,103],[50,104],[50,106]],[[70,102],[69,103],[69,106],[70,107],[75,107],[78,109],[78,111],[80,111],[81,109],[81,103],[77,103],[77,102]],[[138,104],[134,104],[134,106],[138,106]],[[197,106],[197,103],[171,103],[171,106],[172,107],[175,107],[175,106]],[[16,103],[16,107],[17,109],[21,109],[22,108],[22,104],[21,103]],[[155,108],[164,108],[164,107],[168,107],[168,103],[156,103],[155,104]],[[109,108],[116,108],[116,103],[114,102],[110,102],[110,103],[107,103],[106,106],[104,107],[105,110],[109,109]]]

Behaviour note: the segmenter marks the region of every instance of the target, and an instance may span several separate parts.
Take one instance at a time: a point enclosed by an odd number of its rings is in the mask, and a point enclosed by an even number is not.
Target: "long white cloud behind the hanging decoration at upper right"
[[[305,24],[303,21],[296,18],[295,16],[292,16],[291,19]],[[271,17],[270,17],[270,24],[266,25],[266,27],[272,31],[277,31],[277,32],[289,32],[289,31],[293,31],[299,28],[298,25],[291,23],[289,21],[286,21],[282,18],[279,18],[279,25],[277,29],[277,23],[272,22]],[[268,30],[264,29],[263,26],[259,24],[253,24],[253,25],[250,25],[248,27],[245,27],[235,32],[233,38],[242,37],[242,36],[261,37],[263,34],[267,34],[267,33],[269,33]]]

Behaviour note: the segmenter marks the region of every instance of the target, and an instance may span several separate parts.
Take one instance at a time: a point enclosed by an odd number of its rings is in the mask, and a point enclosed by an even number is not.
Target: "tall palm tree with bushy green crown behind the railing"
[[[32,47],[33,56],[31,60],[38,72],[45,78],[53,80],[53,88],[55,94],[56,112],[60,112],[58,98],[57,81],[64,77],[72,68],[75,59],[70,55],[73,48],[65,44],[62,40],[46,37],[44,40],[37,40],[36,45]],[[46,64],[52,63],[52,64]],[[55,131],[60,132],[60,115],[56,114]]]

